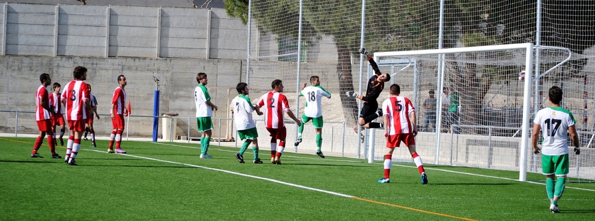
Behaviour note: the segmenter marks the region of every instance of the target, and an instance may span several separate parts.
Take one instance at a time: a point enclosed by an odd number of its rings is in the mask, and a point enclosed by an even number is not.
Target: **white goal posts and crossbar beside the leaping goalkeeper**
[[[536,53],[534,53],[534,50],[537,50],[537,52],[539,52],[538,49],[556,49],[558,51],[563,50],[564,53],[568,53],[566,55],[569,55],[569,50],[566,48],[557,48],[557,47],[544,47],[544,46],[534,46],[533,43],[518,43],[518,44],[511,44],[511,45],[491,45],[491,46],[477,46],[477,47],[466,47],[466,48],[448,48],[448,49],[430,49],[430,50],[410,50],[410,51],[396,51],[396,52],[376,52],[374,53],[374,60],[375,61],[384,61],[387,59],[419,59],[419,58],[430,58],[430,61],[437,61],[437,82],[433,83],[433,85],[436,85],[436,94],[442,94],[443,93],[443,89],[446,86],[444,83],[444,67],[446,66],[445,64],[445,60],[447,58],[445,58],[445,55],[449,55],[450,57],[450,61],[455,61],[455,62],[468,62],[468,63],[475,63],[475,64],[479,64],[477,62],[486,62],[489,63],[490,65],[515,65],[518,67],[522,67],[524,65],[524,71],[527,73],[533,73],[534,71],[534,58],[537,57],[537,59],[539,59],[538,55],[536,55]],[[500,57],[500,53],[499,51],[511,51],[511,53],[508,52],[502,52],[505,53],[507,56],[502,56]],[[483,55],[485,55],[484,57],[474,61],[469,61],[466,59],[469,59],[468,57],[465,57],[466,55],[468,56],[469,54],[472,54],[474,52],[479,52],[476,54],[481,54],[482,52],[486,52]],[[515,53],[516,52],[516,53]],[[524,52],[524,53],[523,53]],[[487,56],[487,54],[496,54],[496,56]],[[523,56],[524,54],[524,56]],[[461,55],[460,57],[458,57],[458,55]],[[491,54],[490,54],[491,55]],[[564,56],[550,56],[549,58],[543,58],[543,59],[549,59],[549,62],[555,62],[555,63],[559,63],[558,65],[555,65],[555,67],[558,67],[559,65],[561,65],[563,62],[568,61],[568,59],[564,60],[563,57]],[[471,56],[469,56],[471,57]],[[505,58],[504,58],[505,57]],[[475,57],[473,57],[475,58]],[[561,59],[560,59],[561,58]],[[569,56],[568,56],[569,58]],[[563,62],[560,62],[564,60]],[[456,65],[455,65],[456,66]],[[555,68],[554,67],[554,68]],[[553,69],[553,68],[552,68]],[[550,70],[552,70],[550,69]],[[548,71],[546,71],[548,72]],[[538,75],[538,77],[543,76],[544,74],[546,74],[546,72],[544,73],[538,73],[540,75]],[[522,83],[522,125],[521,125],[521,140],[520,140],[520,145],[519,145],[519,150],[518,150],[518,169],[519,169],[519,181],[527,181],[527,156],[528,156],[528,149],[530,148],[530,141],[529,141],[529,137],[530,137],[530,130],[533,126],[533,124],[531,124],[531,96],[532,96],[532,83],[533,83],[533,78],[534,74],[527,74],[525,75],[525,79],[524,82]],[[403,90],[403,89],[402,89]],[[472,89],[471,89],[472,90]],[[519,91],[520,92],[520,91]],[[438,112],[441,112],[441,107],[443,106],[443,99],[439,99],[436,100],[436,110],[438,110]],[[459,106],[460,107],[460,106]],[[437,121],[436,121],[436,128],[440,128],[440,124],[442,121],[442,114],[437,114]],[[439,153],[440,153],[440,142],[441,142],[441,132],[436,132],[435,133],[435,148],[436,148],[436,156],[434,156],[435,160],[436,160],[436,164],[439,164]],[[417,140],[417,139],[416,139]],[[371,145],[369,148],[373,149],[374,145]],[[373,160],[374,159],[374,151],[369,151],[369,153],[372,154],[368,154],[369,160]],[[428,157],[429,158],[429,157]]]

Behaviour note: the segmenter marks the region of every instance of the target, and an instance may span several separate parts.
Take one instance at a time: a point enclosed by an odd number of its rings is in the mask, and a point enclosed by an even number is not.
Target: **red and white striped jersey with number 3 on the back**
[[[68,82],[62,90],[62,99],[66,100],[64,115],[67,121],[79,121],[87,119],[87,106],[85,100],[89,100],[89,84],[80,80]]]

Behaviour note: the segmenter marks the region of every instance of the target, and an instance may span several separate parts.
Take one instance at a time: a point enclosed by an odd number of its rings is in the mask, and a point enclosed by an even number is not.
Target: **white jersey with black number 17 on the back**
[[[537,112],[534,124],[541,126],[543,144],[541,154],[558,156],[568,153],[568,127],[577,122],[572,113],[560,107],[544,108]]]

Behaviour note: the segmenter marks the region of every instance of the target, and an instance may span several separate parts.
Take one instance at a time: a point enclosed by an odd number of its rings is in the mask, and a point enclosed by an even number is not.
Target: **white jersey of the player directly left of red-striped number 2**
[[[252,119],[254,106],[252,106],[250,98],[244,94],[238,95],[231,100],[231,108],[233,108],[233,122],[236,123],[237,130],[242,131],[256,127],[256,122]]]

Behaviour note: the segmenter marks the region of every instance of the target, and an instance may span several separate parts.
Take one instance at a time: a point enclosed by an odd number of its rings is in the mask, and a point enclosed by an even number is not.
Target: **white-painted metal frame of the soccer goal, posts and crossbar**
[[[534,66],[534,50],[539,48],[549,48],[549,49],[565,49],[565,48],[558,48],[558,47],[547,47],[547,46],[534,46],[533,43],[518,43],[518,44],[511,44],[511,45],[491,45],[491,46],[477,46],[477,47],[467,47],[467,48],[448,48],[448,49],[430,49],[430,50],[409,50],[409,51],[398,51],[398,52],[376,52],[374,53],[374,60],[378,61],[378,58],[387,57],[387,56],[399,56],[402,58],[407,58],[407,56],[419,56],[419,55],[438,55],[439,56],[439,63],[438,63],[438,79],[440,84],[440,91],[437,93],[442,93],[443,82],[444,82],[444,55],[447,53],[463,53],[463,52],[483,52],[483,51],[497,51],[497,50],[511,50],[511,49],[525,49],[525,72],[533,73],[533,66]],[[568,49],[565,49],[568,51]],[[570,52],[569,52],[570,53]],[[538,59],[538,57],[537,57]],[[565,62],[565,61],[563,61]],[[559,65],[556,65],[558,67]],[[546,71],[549,72],[549,71]],[[543,76],[546,73],[538,75],[538,77]],[[524,92],[523,92],[523,112],[522,112],[522,132],[521,132],[521,145],[519,146],[519,181],[527,181],[527,151],[528,151],[528,144],[529,144],[529,132],[530,127],[533,125],[531,124],[531,83],[533,81],[533,74],[527,74],[525,76],[524,81]],[[437,105],[442,106],[442,100],[440,99],[439,104]],[[441,121],[441,115],[439,115],[438,123]],[[440,132],[436,133],[436,159],[438,159],[439,154],[439,142],[440,142]],[[371,145],[370,148],[374,148],[374,145]],[[372,150],[371,153],[374,153]],[[369,159],[374,159],[373,154],[369,154]],[[437,163],[437,162],[436,162]]]

